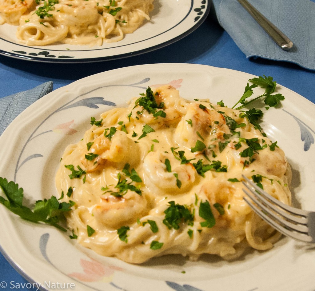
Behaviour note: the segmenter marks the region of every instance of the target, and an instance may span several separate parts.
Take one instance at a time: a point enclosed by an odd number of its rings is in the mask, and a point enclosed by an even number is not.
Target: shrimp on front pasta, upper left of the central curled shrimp
[[[131,140],[123,131],[117,130],[109,139],[104,134],[96,137],[88,152],[84,152],[81,157],[81,163],[87,172],[93,172],[100,169],[100,166],[106,161],[114,163],[122,163],[126,161],[129,164],[135,164],[140,157],[140,149],[138,145]],[[133,153],[130,155],[130,153]],[[94,156],[95,158],[87,159],[86,156]]]

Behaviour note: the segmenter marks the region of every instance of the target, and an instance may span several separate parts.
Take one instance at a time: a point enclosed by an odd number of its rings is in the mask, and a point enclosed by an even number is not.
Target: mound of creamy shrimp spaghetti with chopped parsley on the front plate
[[[142,263],[165,254],[224,259],[272,248],[280,235],[243,200],[242,174],[286,204],[284,152],[241,111],[187,101],[165,85],[106,111],[56,175],[78,243]]]

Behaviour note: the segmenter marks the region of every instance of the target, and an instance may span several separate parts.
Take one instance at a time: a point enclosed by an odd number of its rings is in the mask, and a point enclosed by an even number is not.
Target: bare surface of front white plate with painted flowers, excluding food
[[[0,176],[19,183],[27,203],[59,197],[54,175],[60,157],[66,145],[81,139],[91,116],[124,106],[147,86],[167,83],[184,98],[223,100],[232,106],[252,77],[192,64],[142,65],[86,77],[44,96],[9,125],[0,137]],[[315,105],[282,86],[278,92],[285,96],[283,107],[266,111],[262,126],[289,159],[293,194],[302,208],[315,210]],[[197,262],[165,256],[131,265],[97,255],[53,227],[21,220],[0,207],[2,252],[25,277],[46,289],[56,289],[52,284],[57,282],[73,283],[76,290],[106,291],[315,289],[314,249],[287,238],[270,251],[252,252],[232,263],[210,256]]]

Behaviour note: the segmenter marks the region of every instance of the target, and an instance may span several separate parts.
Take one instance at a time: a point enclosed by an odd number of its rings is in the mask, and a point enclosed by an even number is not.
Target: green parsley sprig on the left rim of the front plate
[[[55,196],[52,196],[49,199],[37,200],[31,209],[23,205],[24,190],[23,188],[19,188],[18,184],[13,181],[8,182],[6,178],[0,177],[0,188],[7,197],[7,199],[5,199],[0,196],[0,203],[14,214],[19,215],[25,220],[36,223],[42,222],[52,225],[62,231],[67,231],[59,225],[60,214],[71,210],[74,202],[59,203],[58,199]]]

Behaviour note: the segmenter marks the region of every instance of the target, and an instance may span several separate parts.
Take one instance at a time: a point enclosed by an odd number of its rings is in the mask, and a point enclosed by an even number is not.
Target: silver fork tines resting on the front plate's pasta
[[[288,237],[306,243],[315,243],[315,212],[288,206],[263,191],[242,175],[248,197],[243,199],[263,220]],[[248,199],[249,198],[249,199]]]

